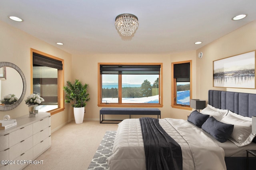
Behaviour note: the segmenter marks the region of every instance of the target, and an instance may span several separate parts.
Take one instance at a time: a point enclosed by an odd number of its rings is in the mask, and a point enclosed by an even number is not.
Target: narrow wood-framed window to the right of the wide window
[[[191,65],[192,61],[172,63],[172,107],[191,109]]]

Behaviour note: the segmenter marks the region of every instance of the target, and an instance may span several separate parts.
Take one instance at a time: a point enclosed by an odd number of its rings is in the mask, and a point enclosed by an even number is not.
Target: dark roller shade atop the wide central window
[[[160,65],[100,65],[100,74],[160,74]]]

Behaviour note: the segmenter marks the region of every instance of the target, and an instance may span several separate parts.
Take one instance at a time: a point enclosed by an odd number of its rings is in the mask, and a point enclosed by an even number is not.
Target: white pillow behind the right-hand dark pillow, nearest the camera
[[[228,111],[228,114],[221,119],[221,122],[234,125],[229,140],[235,145],[243,147],[252,143],[252,140],[255,137],[255,134],[252,133],[252,118]]]

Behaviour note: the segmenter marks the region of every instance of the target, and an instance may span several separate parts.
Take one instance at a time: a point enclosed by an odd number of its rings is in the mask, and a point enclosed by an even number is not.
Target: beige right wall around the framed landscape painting
[[[237,29],[220,39],[198,49],[203,52],[202,59],[196,60],[197,82],[196,95],[208,100],[208,90],[256,93],[255,89],[213,87],[213,61],[256,50],[256,21]]]

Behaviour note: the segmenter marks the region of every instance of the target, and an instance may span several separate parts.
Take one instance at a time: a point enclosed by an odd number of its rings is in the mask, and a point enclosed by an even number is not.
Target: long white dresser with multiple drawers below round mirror
[[[31,164],[51,146],[50,113],[39,112],[37,117],[24,115],[16,120],[16,126],[0,130],[0,170],[22,169],[28,165],[25,161]]]

